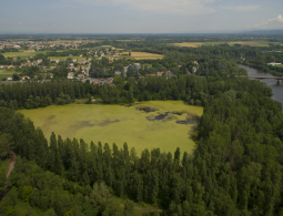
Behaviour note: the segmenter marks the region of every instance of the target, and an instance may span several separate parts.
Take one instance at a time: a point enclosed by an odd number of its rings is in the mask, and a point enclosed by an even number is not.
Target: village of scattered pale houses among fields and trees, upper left
[[[108,83],[113,85],[113,78],[121,75],[127,78],[128,71],[131,66],[138,70],[138,78],[144,76],[173,76],[174,73],[170,70],[152,70],[149,74],[140,74],[139,71],[144,68],[139,60],[134,63],[123,65],[122,69],[114,69],[114,61],[121,58],[129,58],[124,50],[115,49],[111,45],[101,45],[97,48],[89,48],[88,42],[54,42],[54,41],[0,41],[0,51],[10,51],[7,59],[10,60],[9,65],[0,65],[7,71],[16,71],[19,75],[9,75],[2,81],[44,81],[55,79],[55,71],[60,68],[68,70],[64,78],[69,80],[90,80],[92,84]],[[52,55],[53,54],[53,55]],[[91,62],[107,63],[108,74],[97,76],[90,74]],[[134,59],[133,59],[134,60]],[[194,66],[191,69],[195,73],[199,68],[198,61],[193,61]],[[104,66],[104,65],[103,65]],[[151,65],[150,65],[151,66]],[[181,65],[179,65],[180,68]],[[28,74],[30,69],[36,70],[36,73]],[[105,66],[104,66],[105,70]],[[23,72],[24,71],[24,72]],[[191,72],[188,71],[190,74]],[[137,76],[137,75],[135,75]]]

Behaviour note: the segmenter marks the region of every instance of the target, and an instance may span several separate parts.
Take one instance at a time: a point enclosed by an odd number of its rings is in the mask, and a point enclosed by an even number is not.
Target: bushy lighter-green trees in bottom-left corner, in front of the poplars
[[[111,199],[104,182],[81,186],[21,157],[17,158],[9,185],[12,188],[0,204],[0,215],[18,215],[19,200],[29,204],[28,215],[34,215],[33,209],[41,209],[46,216],[124,216],[134,213],[132,202],[128,200],[123,209]]]

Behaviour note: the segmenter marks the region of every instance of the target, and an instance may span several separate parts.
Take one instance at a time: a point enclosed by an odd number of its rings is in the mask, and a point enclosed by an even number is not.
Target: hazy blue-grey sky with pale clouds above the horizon
[[[283,0],[1,0],[0,33],[216,33],[283,29]]]

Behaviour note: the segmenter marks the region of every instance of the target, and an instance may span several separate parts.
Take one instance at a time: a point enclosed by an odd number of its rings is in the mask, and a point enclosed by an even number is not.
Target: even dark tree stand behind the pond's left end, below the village
[[[68,104],[85,94],[98,94],[99,86],[68,80],[51,82],[27,82],[0,86],[0,106],[37,109],[54,104]]]

